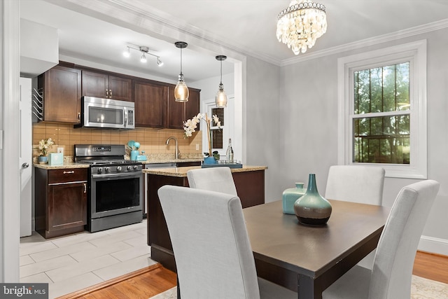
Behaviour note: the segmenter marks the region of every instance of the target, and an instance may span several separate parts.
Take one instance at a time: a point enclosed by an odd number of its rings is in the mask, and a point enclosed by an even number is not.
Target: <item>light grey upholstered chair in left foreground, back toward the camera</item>
[[[258,279],[239,197],[169,185],[158,195],[182,299],[297,298]]]

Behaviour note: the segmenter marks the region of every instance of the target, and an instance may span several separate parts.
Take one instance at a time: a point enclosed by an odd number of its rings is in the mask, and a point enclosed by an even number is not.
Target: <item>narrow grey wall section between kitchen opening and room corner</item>
[[[281,200],[284,156],[279,97],[280,67],[253,57],[246,60],[246,164],[266,165],[265,201]],[[281,188],[281,187],[280,187]]]

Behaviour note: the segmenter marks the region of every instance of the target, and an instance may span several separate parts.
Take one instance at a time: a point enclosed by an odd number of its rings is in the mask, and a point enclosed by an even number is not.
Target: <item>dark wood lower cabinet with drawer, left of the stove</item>
[[[35,172],[36,232],[45,238],[82,232],[87,224],[87,168]]]

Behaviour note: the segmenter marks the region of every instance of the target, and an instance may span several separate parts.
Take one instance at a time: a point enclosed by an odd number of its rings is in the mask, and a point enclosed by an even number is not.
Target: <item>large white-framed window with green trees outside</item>
[[[426,179],[426,41],[338,60],[342,165]]]

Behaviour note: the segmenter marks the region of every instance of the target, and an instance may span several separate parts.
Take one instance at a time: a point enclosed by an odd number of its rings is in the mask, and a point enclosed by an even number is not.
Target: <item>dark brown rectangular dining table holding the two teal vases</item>
[[[321,299],[322,292],[378,244],[390,208],[328,200],[325,225],[302,225],[281,200],[243,209],[258,277]]]

